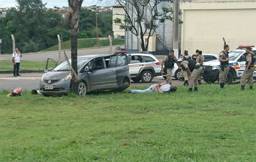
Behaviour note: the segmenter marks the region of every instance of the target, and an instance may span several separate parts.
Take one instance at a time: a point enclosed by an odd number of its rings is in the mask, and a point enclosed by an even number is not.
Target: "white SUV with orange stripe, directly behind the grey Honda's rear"
[[[154,77],[161,76],[159,61],[148,52],[126,53],[129,56],[129,72],[134,82],[150,83]]]

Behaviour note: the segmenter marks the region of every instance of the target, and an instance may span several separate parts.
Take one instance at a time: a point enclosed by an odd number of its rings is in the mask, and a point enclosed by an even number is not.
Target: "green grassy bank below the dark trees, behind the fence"
[[[81,48],[92,48],[95,44],[97,43],[97,39],[91,39],[91,38],[82,38],[82,39],[78,39],[77,40],[77,48],[81,49]],[[65,50],[70,50],[71,45],[70,45],[70,40],[67,42],[64,42],[64,49]],[[112,39],[112,45],[122,45],[125,44],[125,40],[124,39]],[[99,42],[99,47],[104,47],[104,46],[108,46],[109,45],[109,39],[105,39],[105,40],[100,40]],[[61,44],[61,50],[62,50],[62,44]],[[47,48],[45,50],[42,50],[40,52],[46,52],[46,51],[57,51],[59,50],[59,45],[54,45],[50,48]]]

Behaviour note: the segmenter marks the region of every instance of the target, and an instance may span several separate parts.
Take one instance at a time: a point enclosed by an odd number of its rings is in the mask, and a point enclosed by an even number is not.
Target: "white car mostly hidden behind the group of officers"
[[[192,54],[189,54],[189,56],[191,57]],[[204,53],[203,56],[205,57],[204,62],[211,61],[211,60],[218,60],[218,55],[217,54]],[[181,57],[179,57],[177,60],[181,61]],[[176,80],[179,80],[180,71],[181,71],[181,68],[179,68],[177,66],[177,64],[175,63],[174,67],[173,67],[173,70],[171,71],[172,77],[174,77]],[[166,79],[166,74],[164,72],[163,72],[163,77],[164,77],[164,79]]]

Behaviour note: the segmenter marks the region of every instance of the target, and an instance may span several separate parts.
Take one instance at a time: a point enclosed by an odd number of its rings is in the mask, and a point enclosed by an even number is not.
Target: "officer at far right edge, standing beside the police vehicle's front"
[[[253,72],[255,70],[254,63],[256,61],[256,56],[252,52],[252,49],[250,47],[246,47],[245,52],[246,52],[246,55],[245,55],[246,56],[246,63],[245,63],[246,68],[241,77],[240,84],[241,84],[241,89],[245,90],[245,80],[247,78],[250,89],[252,90],[253,89]]]

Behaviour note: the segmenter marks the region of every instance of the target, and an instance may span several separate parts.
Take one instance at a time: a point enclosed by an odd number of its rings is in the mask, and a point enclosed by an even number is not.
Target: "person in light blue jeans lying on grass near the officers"
[[[155,92],[155,93],[170,93],[177,90],[176,86],[172,86],[163,82],[161,84],[153,84],[148,89],[145,90],[132,90],[130,89],[128,93],[146,93],[146,92]]]

